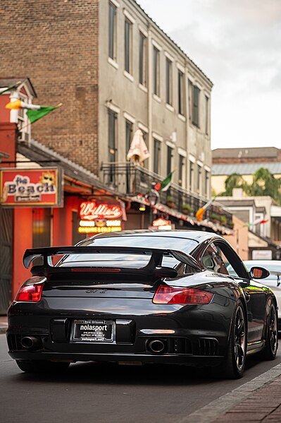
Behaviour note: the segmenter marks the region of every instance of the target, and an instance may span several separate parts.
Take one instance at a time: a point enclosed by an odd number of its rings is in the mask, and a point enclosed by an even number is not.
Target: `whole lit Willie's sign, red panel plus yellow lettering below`
[[[82,234],[122,230],[123,210],[119,203],[84,201],[80,204],[79,214],[81,220],[78,232]]]

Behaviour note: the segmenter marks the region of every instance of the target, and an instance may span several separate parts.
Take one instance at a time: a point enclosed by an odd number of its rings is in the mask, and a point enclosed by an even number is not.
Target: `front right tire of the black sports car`
[[[274,360],[278,348],[278,316],[275,304],[271,304],[266,329],[266,345],[259,353],[263,360]]]

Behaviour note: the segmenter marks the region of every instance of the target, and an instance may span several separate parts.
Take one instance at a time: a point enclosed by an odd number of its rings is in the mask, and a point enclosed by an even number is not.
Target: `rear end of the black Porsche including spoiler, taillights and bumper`
[[[50,266],[49,255],[56,250],[43,250],[27,251],[27,267],[39,255],[44,256],[44,265],[33,266],[33,277],[8,310],[7,338],[13,359],[199,366],[222,361],[235,302],[214,293],[208,283],[202,286],[201,275],[196,277],[199,268],[179,277],[173,268],[160,264],[170,254],[195,268],[198,265],[190,256],[130,249],[132,254],[149,254],[149,263],[142,268],[97,267],[89,262],[65,267],[65,263]],[[97,253],[94,247],[92,252]]]

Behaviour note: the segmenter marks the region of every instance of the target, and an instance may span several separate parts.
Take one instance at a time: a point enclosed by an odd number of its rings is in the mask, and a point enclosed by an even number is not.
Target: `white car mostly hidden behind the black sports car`
[[[278,305],[278,332],[281,332],[281,261],[278,260],[246,260],[244,265],[249,270],[253,266],[262,266],[266,268],[270,275],[264,280],[264,284],[273,290]],[[234,275],[235,271],[232,266],[228,266],[227,270],[230,275]]]

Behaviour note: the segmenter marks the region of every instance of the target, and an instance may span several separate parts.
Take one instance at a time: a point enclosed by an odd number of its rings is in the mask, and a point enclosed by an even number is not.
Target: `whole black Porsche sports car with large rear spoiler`
[[[25,267],[33,260],[8,309],[9,354],[23,371],[175,363],[239,378],[246,355],[275,358],[277,303],[256,281],[268,270],[248,272],[219,235],[98,234],[77,246],[27,249]]]

